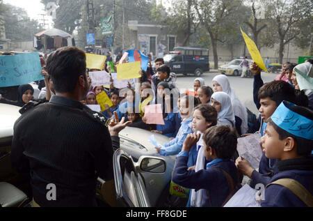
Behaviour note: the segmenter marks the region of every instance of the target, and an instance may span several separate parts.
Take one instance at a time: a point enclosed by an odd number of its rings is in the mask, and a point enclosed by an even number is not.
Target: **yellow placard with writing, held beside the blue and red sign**
[[[140,61],[120,63],[118,64],[118,80],[139,78],[141,77],[141,75],[139,74],[140,70]]]

